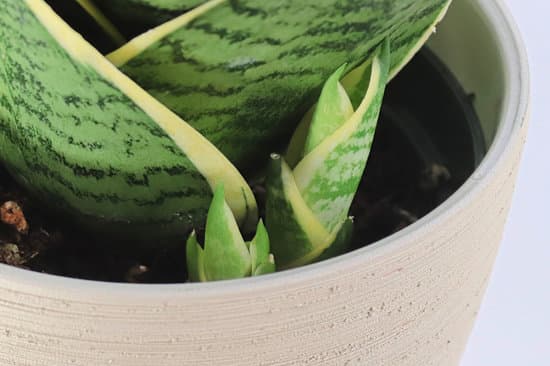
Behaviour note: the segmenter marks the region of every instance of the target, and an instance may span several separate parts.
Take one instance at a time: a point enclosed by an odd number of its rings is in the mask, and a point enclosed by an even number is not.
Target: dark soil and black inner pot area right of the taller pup
[[[354,248],[428,214],[462,186],[486,148],[474,95],[423,49],[388,85],[354,202]]]

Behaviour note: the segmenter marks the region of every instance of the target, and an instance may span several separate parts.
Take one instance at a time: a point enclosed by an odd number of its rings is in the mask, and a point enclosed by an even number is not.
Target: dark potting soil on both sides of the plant
[[[422,88],[413,89],[417,85]],[[471,98],[430,52],[422,52],[386,93],[351,209],[350,250],[412,224],[458,189],[483,155],[480,131]],[[256,191],[261,205],[261,187]],[[35,201],[0,165],[0,262],[99,281],[186,281],[186,238],[170,249],[106,245],[54,211]]]

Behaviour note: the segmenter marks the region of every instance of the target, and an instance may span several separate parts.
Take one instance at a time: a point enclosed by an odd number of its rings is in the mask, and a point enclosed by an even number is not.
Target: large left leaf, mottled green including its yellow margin
[[[239,224],[257,223],[225,156],[43,0],[0,6],[0,160],[22,185],[96,231],[154,243],[203,226],[220,183]]]

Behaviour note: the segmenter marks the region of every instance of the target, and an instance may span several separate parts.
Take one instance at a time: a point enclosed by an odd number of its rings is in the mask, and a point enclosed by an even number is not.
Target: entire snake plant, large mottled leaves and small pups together
[[[54,3],[78,4],[101,34],[77,32]],[[449,3],[0,0],[0,160],[38,199],[103,234],[161,245],[206,226],[204,252],[188,245],[191,262],[206,258],[197,280],[224,277],[209,268],[219,256],[207,216],[216,222],[227,205],[244,235],[263,237],[245,177],[269,165],[277,263],[318,260],[350,236],[385,83]],[[95,37],[115,48],[101,53]],[[210,227],[258,260],[228,217]],[[258,268],[271,268],[264,254]]]

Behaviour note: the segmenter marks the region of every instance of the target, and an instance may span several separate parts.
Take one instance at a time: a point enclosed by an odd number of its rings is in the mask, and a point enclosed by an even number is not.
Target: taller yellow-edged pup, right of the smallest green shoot
[[[310,130],[321,131],[311,131],[305,140],[315,136],[322,141],[306,151],[294,169],[280,156],[272,155],[266,222],[272,250],[281,267],[310,263],[332,245],[346,245],[340,242],[350,236],[348,212],[370,153],[389,71],[390,46],[385,41],[372,59],[348,73],[342,83],[334,77],[327,80],[320,103],[313,113],[307,114],[317,118],[307,124]],[[341,74],[341,69],[334,73]],[[342,96],[340,88],[346,88],[350,95],[362,89],[363,95],[357,109],[345,120],[341,117],[346,114],[341,112],[349,109],[353,98],[350,101]],[[345,101],[339,103],[341,108],[336,112],[321,104],[327,100],[334,103],[334,98],[326,96],[334,95],[335,90],[337,100]],[[330,121],[331,128],[323,128],[323,121]]]

